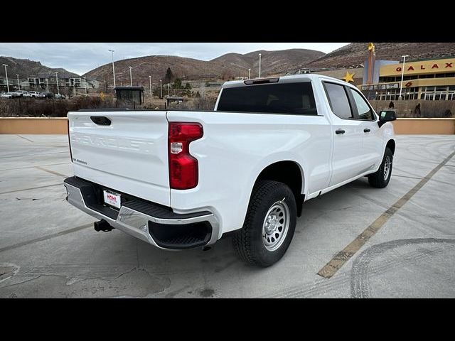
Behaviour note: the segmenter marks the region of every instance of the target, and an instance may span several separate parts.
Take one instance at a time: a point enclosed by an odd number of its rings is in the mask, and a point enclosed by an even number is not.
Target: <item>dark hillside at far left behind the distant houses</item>
[[[61,67],[52,68],[42,65],[40,62],[36,62],[33,60],[28,59],[18,59],[12,57],[3,57],[0,56],[0,65],[6,64],[8,65],[8,77],[11,79],[16,79],[16,74],[19,75],[21,80],[25,80],[26,77],[30,75],[38,75],[38,74],[46,74],[46,75],[53,75],[54,72],[59,72],[60,74],[77,76],[73,72],[69,72]],[[1,67],[0,70],[0,77],[5,77],[5,69]]]

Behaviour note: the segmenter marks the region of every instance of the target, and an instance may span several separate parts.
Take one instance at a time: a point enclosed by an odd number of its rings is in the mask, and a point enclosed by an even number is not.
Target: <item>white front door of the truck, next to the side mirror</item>
[[[362,173],[373,171],[380,165],[383,151],[378,118],[360,92],[348,87],[348,95],[353,107],[354,117],[361,121],[360,126],[363,133]]]

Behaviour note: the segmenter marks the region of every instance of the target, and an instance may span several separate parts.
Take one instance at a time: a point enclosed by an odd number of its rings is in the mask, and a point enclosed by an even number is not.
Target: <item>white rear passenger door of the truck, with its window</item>
[[[337,185],[363,172],[363,122],[355,119],[348,89],[323,82],[331,107],[333,139],[332,176],[329,186]]]

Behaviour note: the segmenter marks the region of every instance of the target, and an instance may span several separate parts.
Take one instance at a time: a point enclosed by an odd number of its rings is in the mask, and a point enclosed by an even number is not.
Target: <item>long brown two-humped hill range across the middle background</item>
[[[129,66],[132,67],[133,85],[148,85],[151,81],[157,85],[164,79],[166,70],[171,67],[173,75],[183,80],[225,79],[247,77],[252,69],[252,77],[257,77],[259,70],[258,53],[262,53],[262,76],[294,70],[296,65],[306,64],[319,58],[323,53],[314,50],[292,49],[282,51],[255,51],[241,55],[228,53],[214,60],[205,61],[173,55],[150,55],[115,61],[117,85],[129,85]],[[87,72],[85,77],[112,82],[112,64],[108,63]]]

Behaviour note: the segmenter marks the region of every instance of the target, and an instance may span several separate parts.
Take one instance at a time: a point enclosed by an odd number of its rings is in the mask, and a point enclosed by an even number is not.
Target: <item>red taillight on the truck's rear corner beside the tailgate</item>
[[[198,185],[198,160],[190,154],[190,142],[203,136],[198,123],[169,123],[169,183],[174,190],[188,190]]]

